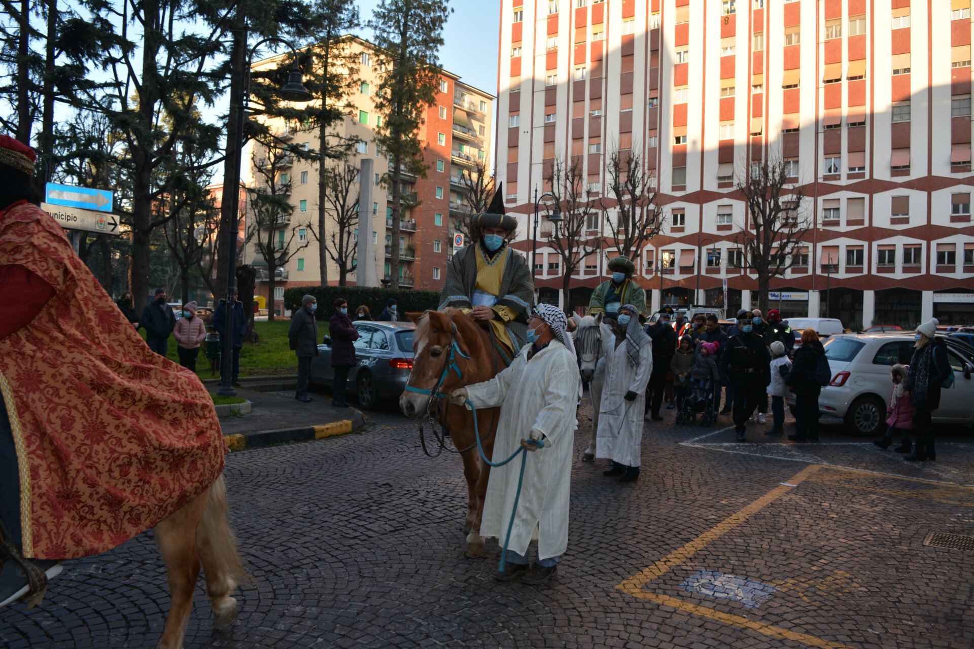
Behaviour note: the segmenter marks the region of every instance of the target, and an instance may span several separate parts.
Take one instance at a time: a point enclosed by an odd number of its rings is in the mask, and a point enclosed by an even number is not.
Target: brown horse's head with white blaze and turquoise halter
[[[461,314],[453,308],[406,313],[406,317],[416,323],[413,369],[406,381],[406,391],[399,397],[399,408],[406,416],[419,418],[426,415],[437,392],[448,396],[460,387],[461,378],[451,368],[464,354],[453,322],[453,316]]]

